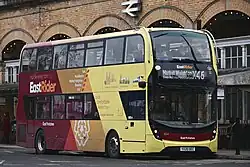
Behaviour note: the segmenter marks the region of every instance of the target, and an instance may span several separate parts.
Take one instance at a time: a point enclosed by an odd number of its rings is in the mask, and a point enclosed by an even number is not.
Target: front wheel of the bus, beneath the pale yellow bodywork
[[[120,157],[120,141],[116,132],[111,132],[106,141],[106,154],[110,158]]]

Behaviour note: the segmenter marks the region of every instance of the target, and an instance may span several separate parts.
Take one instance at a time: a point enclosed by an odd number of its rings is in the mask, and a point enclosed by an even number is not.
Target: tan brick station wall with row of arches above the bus
[[[142,0],[142,12],[132,18],[121,13],[123,1],[71,0],[0,11],[0,55],[15,39],[27,43],[46,41],[57,33],[77,37],[94,34],[106,26],[120,30],[149,26],[159,19],[171,19],[185,28],[195,28],[197,19],[204,25],[225,10],[238,10],[250,16],[250,4],[246,0]]]

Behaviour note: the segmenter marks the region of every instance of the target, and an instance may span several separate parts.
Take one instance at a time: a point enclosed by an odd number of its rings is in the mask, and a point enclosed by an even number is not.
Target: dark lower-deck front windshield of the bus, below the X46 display
[[[216,121],[212,110],[214,89],[167,89],[158,87],[149,104],[152,120],[174,126],[203,126]]]

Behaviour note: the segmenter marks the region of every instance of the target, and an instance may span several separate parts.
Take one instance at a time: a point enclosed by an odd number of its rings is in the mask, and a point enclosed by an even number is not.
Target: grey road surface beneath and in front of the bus
[[[100,154],[61,152],[54,155],[36,155],[34,149],[25,149],[14,145],[0,145],[0,166],[83,166],[83,167],[141,167],[141,166],[205,166],[205,167],[249,167],[250,151],[242,151],[240,156],[234,150],[219,150],[214,159],[184,158],[169,159],[148,156],[124,156],[121,159],[109,159]]]

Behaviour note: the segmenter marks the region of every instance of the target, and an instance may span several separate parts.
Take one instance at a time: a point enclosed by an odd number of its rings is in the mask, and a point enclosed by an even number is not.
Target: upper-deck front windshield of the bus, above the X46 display
[[[151,33],[156,60],[191,60],[210,62],[209,41],[205,34],[188,31],[156,31]]]

